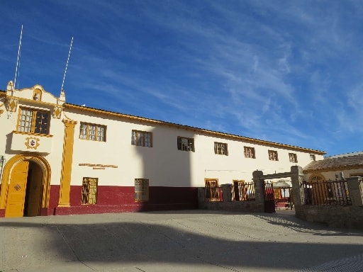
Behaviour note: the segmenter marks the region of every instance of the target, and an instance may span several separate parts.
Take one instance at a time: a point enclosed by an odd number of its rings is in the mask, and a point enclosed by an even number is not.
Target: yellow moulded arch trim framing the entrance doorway
[[[1,195],[0,195],[0,209],[6,208],[6,197],[8,194],[8,186],[10,183],[11,171],[14,169],[16,164],[23,161],[35,162],[40,166],[43,171],[43,193],[42,193],[42,208],[48,208],[49,205],[49,196],[50,196],[50,176],[51,169],[48,161],[37,154],[18,154],[8,162],[6,162],[4,166],[3,178],[1,181]]]

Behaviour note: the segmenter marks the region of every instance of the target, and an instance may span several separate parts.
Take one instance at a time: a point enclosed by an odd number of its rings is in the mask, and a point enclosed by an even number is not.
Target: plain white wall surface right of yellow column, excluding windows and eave
[[[192,128],[176,128],[135,122],[125,118],[106,118],[89,111],[69,109],[67,117],[77,120],[74,135],[72,185],[82,184],[83,177],[99,178],[99,185],[134,186],[136,178],[150,179],[150,186],[204,186],[205,178],[216,178],[219,183],[233,179],[252,181],[252,172],[264,174],[290,171],[295,163],[289,162],[289,152],[296,153],[298,165],[311,162],[311,151],[289,150],[289,147],[267,147],[203,135]],[[106,142],[79,139],[81,122],[106,125]],[[152,147],[131,145],[131,131],[152,132]],[[194,138],[195,152],[177,149],[177,137]],[[228,156],[214,154],[214,142],[228,144]],[[244,146],[255,147],[256,159],[245,158]],[[277,150],[279,161],[269,161],[268,150]],[[323,156],[315,154],[316,159]],[[79,164],[111,164],[118,168],[92,169]]]

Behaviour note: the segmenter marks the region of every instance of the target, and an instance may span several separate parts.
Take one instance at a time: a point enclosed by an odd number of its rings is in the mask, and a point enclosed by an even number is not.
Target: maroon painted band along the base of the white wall
[[[133,186],[99,186],[97,204],[81,204],[82,186],[71,186],[69,207],[58,207],[60,186],[50,187],[48,208],[41,208],[40,215],[81,215],[108,212],[143,212],[153,210],[191,210],[198,208],[197,188],[162,187],[149,188],[149,201],[135,201]],[[0,210],[0,217],[5,210]]]

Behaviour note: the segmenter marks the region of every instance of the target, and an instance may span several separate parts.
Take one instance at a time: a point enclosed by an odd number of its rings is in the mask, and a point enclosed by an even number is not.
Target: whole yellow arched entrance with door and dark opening
[[[49,191],[48,162],[38,155],[16,155],[4,167],[0,208],[5,217],[40,215],[41,208],[48,208]]]

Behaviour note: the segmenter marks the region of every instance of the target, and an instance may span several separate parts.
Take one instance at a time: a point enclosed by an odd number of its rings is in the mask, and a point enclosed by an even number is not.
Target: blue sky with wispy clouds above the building
[[[0,1],[0,89],[327,152],[363,150],[363,2]]]

